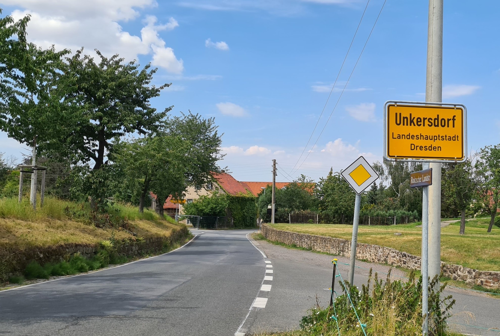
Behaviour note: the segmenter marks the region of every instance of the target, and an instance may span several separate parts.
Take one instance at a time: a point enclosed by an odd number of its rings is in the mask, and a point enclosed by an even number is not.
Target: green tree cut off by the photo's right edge
[[[500,144],[481,148],[474,167],[478,182],[476,200],[491,217],[488,226],[491,232],[500,203]]]

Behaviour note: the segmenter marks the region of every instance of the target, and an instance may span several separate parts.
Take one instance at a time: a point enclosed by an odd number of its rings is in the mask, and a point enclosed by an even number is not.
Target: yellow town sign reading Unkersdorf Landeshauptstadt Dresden
[[[389,100],[384,104],[384,158],[463,162],[467,109],[462,104]]]

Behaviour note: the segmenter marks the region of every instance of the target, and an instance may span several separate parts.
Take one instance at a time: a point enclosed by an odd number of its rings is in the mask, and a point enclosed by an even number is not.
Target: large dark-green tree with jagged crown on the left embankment
[[[83,55],[79,49],[66,57],[62,82],[66,92],[67,132],[59,152],[73,165],[72,191],[91,197],[92,208],[103,209],[112,194],[112,160],[116,139],[130,133],[148,134],[158,130],[171,107],[157,111],[150,99],[169,86],[151,85],[156,69],[146,64],[139,69],[136,61],[124,62],[117,54],[99,61]],[[92,166],[91,166],[92,165]]]

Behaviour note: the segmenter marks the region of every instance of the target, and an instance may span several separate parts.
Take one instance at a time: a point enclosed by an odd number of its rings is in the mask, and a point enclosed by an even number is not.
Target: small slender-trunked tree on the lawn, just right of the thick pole
[[[444,197],[442,202],[460,212],[460,231],[465,233],[465,210],[470,207],[477,183],[472,174],[472,163],[446,163],[442,174],[441,186]]]

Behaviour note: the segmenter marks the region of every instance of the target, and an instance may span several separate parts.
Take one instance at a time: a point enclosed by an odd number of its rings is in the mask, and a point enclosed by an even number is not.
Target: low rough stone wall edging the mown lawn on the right
[[[272,241],[334,255],[350,256],[350,240],[282,231],[266,224],[262,224],[262,234]],[[420,269],[419,256],[378,245],[357,243],[356,259]],[[478,284],[490,288],[500,288],[500,272],[498,271],[477,270],[461,265],[448,264],[443,261],[441,261],[441,271],[444,276],[453,280],[462,280],[469,284]]]

